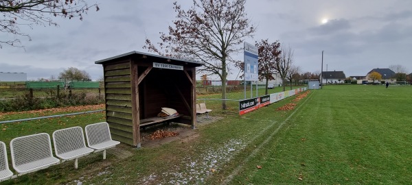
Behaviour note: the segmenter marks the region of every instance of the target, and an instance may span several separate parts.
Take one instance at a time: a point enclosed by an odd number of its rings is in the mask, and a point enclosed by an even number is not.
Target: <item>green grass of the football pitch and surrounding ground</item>
[[[77,170],[65,162],[2,183],[409,184],[411,94],[411,86],[325,86],[312,90],[295,110],[276,110],[295,98],[289,97],[243,116],[235,103],[221,111],[220,101],[206,100],[211,117],[219,120],[199,123],[191,138],[142,149],[120,145],[132,155],[102,160],[93,154],[80,158]],[[5,128],[0,140],[8,145],[16,136],[103,119],[95,113],[0,125]]]

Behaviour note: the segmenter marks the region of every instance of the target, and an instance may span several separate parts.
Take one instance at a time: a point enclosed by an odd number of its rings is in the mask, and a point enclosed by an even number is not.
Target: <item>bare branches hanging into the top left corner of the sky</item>
[[[21,26],[33,28],[34,25],[54,25],[58,26],[52,19],[52,16],[61,16],[63,18],[79,17],[83,19],[89,8],[95,7],[99,10],[97,4],[87,5],[85,0],[5,0],[0,1],[0,32],[12,34],[14,38],[10,40],[0,40],[1,44],[11,45],[14,47],[23,47],[19,39],[20,36],[27,37],[31,40],[29,34],[20,31]]]

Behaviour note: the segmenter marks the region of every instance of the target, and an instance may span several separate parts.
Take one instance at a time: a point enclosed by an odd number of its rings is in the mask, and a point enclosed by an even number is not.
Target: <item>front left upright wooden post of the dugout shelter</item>
[[[137,74],[137,64],[135,61],[130,60],[130,68],[131,68],[130,78],[131,78],[131,85],[132,85],[131,90],[132,90],[133,145],[135,145],[137,148],[140,148],[141,141],[140,141],[140,123],[139,123],[140,121],[140,118],[139,118],[139,82],[137,81],[139,74]],[[141,75],[141,76],[144,77],[146,75]]]

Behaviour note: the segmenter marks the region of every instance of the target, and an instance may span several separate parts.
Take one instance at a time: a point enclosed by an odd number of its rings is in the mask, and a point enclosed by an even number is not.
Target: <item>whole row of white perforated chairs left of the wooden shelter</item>
[[[67,160],[75,160],[74,166],[77,169],[78,158],[92,152],[103,151],[103,159],[106,159],[106,149],[120,143],[111,139],[106,122],[87,125],[84,129],[89,147],[85,144],[82,127],[69,127],[53,132],[54,153],[60,159],[53,156],[52,143],[47,133],[12,139],[10,153],[12,166],[17,175],[10,171],[5,143],[0,141],[0,182],[46,169]]]

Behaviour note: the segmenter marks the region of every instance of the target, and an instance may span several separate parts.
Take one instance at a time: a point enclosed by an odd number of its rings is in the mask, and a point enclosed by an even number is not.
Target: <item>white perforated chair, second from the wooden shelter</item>
[[[75,160],[74,167],[78,168],[78,158],[87,156],[94,150],[86,147],[82,127],[70,127],[53,132],[54,151],[62,160]]]

